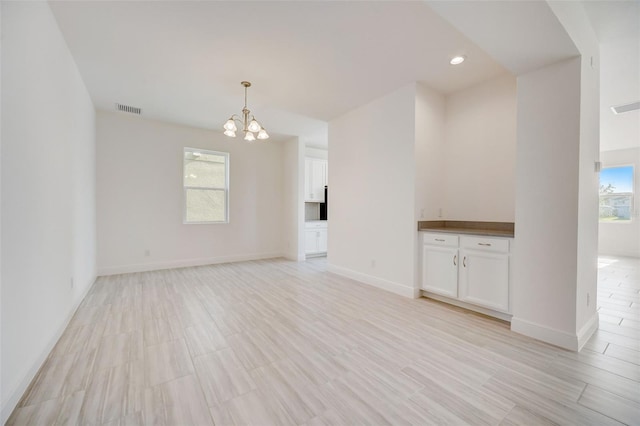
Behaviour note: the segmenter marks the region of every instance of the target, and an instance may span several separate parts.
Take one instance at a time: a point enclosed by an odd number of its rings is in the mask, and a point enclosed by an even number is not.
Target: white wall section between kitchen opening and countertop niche
[[[410,297],[415,97],[410,84],[329,123],[329,270]]]

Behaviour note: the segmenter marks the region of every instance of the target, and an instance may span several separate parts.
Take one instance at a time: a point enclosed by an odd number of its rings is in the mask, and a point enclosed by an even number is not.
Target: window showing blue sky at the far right
[[[600,171],[600,221],[630,222],[633,211],[633,166]]]

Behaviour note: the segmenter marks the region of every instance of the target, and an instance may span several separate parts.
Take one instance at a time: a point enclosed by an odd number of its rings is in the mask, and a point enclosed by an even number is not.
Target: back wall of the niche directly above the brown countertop
[[[514,221],[516,98],[510,74],[447,96],[447,220]]]

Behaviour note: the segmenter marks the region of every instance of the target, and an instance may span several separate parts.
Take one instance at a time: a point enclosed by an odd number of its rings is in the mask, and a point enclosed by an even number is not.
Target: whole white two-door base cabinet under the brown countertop
[[[508,313],[509,242],[423,232],[422,290]]]

